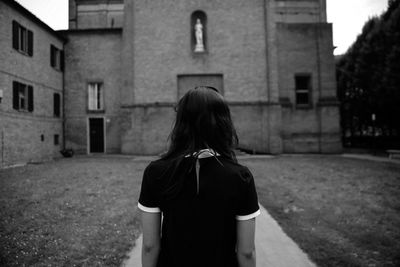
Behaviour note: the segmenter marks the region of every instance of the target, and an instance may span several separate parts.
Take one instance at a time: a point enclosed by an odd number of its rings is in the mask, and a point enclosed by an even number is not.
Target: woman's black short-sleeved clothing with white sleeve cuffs
[[[198,167],[189,168],[172,198],[164,194],[170,162],[151,162],[144,171],[138,207],[163,215],[158,267],[238,266],[237,220],[260,214],[249,169],[207,151],[201,154]],[[179,166],[193,162],[190,156]]]

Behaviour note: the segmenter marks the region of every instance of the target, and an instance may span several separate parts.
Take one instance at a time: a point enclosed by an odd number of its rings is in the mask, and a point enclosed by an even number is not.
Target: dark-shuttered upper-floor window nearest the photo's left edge
[[[13,48],[28,56],[33,56],[33,32],[21,26],[15,20],[13,27]]]

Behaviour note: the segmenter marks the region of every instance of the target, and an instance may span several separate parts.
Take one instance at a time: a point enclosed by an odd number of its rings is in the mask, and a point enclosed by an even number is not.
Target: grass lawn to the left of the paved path
[[[119,266],[147,162],[72,158],[0,170],[0,266]]]

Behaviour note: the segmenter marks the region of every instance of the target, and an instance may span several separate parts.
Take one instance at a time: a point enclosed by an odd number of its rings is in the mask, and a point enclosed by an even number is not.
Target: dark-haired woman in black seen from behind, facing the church
[[[143,266],[255,266],[260,210],[253,177],[233,152],[238,138],[228,105],[202,86],[176,111],[168,152],[143,174]]]

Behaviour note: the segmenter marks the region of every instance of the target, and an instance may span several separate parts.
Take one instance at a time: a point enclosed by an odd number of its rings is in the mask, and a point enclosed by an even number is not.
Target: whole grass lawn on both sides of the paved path
[[[400,265],[400,165],[246,159],[259,200],[319,266]],[[79,157],[0,170],[0,266],[119,266],[148,161]]]

